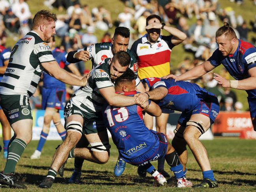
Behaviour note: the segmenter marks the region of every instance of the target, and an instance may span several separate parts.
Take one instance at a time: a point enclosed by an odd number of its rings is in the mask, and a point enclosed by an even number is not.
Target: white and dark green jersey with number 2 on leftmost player
[[[0,94],[30,97],[41,78],[41,63],[54,60],[50,46],[36,32],[29,32],[17,41],[11,51],[9,64],[0,83]]]

